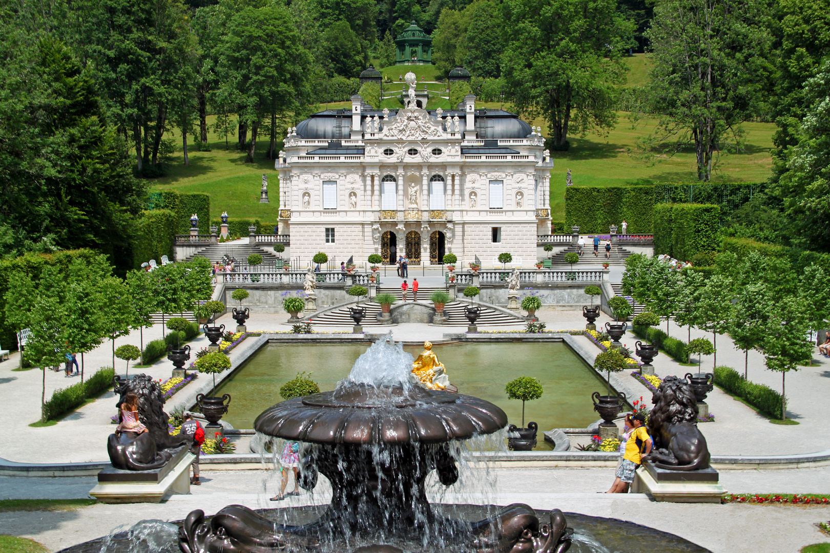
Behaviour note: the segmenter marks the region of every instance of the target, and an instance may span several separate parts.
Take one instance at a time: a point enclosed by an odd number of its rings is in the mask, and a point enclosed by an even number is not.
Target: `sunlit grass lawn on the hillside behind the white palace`
[[[637,59],[627,58],[628,60]],[[427,67],[424,65],[407,65],[407,67]],[[476,103],[477,107],[498,109],[498,102]],[[385,99],[382,107],[390,109],[400,107],[398,99]],[[350,109],[349,102],[324,104],[320,109]],[[427,105],[430,109],[438,107],[449,109],[446,99]],[[509,105],[501,106],[510,110]],[[213,117],[208,118],[212,124]],[[542,127],[547,136],[547,124],[541,119],[529,121]],[[637,137],[652,131],[655,121],[645,119],[636,129],[632,129],[627,114],[619,114],[617,128],[608,136],[598,137],[588,134],[584,138],[570,136],[571,148],[568,152],[553,152],[554,168],[551,171],[550,204],[554,221],[564,220],[565,175],[568,169],[575,186],[609,187],[653,182],[695,182],[695,155],[687,148],[674,157],[661,163],[649,165],[627,154],[627,148],[633,148]],[[746,146],[741,153],[723,152],[720,163],[715,170],[715,182],[761,182],[769,177],[772,159],[769,151],[773,146],[772,136],[775,125],[770,123],[748,123]],[[178,133],[173,133],[177,151],[168,175],[151,181],[154,190],[177,190],[178,192],[205,192],[211,196],[211,216],[218,218],[222,211],[231,217],[259,218],[261,221],[276,221],[279,187],[274,172],[273,160],[265,158],[268,145],[267,137],[257,142],[256,163],[244,163],[245,154],[232,149],[234,142],[230,138],[230,149],[225,149],[224,139],[215,134],[209,137],[211,152],[190,152],[190,165],[182,165],[181,141]],[[280,137],[283,138],[283,137]],[[269,176],[270,204],[259,203],[262,173]]]

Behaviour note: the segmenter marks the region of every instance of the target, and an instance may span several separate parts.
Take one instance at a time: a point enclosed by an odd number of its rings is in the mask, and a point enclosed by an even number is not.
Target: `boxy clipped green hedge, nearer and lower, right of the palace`
[[[691,260],[699,251],[719,249],[720,206],[659,204],[654,208],[654,253]]]

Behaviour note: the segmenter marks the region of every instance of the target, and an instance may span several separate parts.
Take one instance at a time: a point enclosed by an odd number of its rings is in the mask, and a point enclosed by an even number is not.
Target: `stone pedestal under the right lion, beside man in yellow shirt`
[[[648,493],[655,501],[672,503],[720,503],[720,497],[726,493],[714,468],[665,470],[650,461],[637,468],[631,491]]]

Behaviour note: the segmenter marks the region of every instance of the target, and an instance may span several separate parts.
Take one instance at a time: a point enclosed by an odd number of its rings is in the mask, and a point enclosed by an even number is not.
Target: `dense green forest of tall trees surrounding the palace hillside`
[[[174,149],[187,164],[212,130],[249,162],[274,158],[321,88],[393,64],[411,21],[432,33],[440,75],[465,66],[544,119],[554,150],[618,124],[624,57],[649,52],[649,84],[627,90],[658,121],[637,154],[694,148],[707,181],[718,152],[743,147],[742,123],[773,121],[769,193],[736,233],[830,250],[830,0],[2,3],[3,255],[125,255],[126,223]]]

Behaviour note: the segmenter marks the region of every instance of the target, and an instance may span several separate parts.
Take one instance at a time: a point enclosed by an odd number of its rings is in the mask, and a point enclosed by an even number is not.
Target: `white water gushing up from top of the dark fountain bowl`
[[[401,386],[405,392],[409,391],[413,387],[410,380],[413,361],[414,357],[403,351],[403,342],[395,343],[389,332],[354,361],[349,376],[337,383],[337,390],[362,384],[375,388]]]

